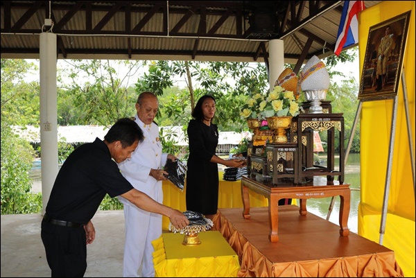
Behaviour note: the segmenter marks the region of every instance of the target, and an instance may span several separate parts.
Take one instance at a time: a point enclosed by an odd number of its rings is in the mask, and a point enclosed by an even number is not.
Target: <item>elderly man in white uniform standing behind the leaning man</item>
[[[143,130],[144,141],[119,168],[135,189],[162,203],[162,180],[166,180],[163,174],[167,175],[162,168],[166,159],[175,161],[176,157],[162,153],[159,127],[153,121],[158,107],[159,101],[151,92],[143,92],[137,98],[135,122]],[[162,234],[162,216],[139,209],[122,197],[119,200],[124,205],[125,218],[123,277],[155,277],[152,241]]]

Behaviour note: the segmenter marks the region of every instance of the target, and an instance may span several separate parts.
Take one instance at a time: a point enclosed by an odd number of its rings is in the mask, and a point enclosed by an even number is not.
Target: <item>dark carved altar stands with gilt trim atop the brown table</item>
[[[327,166],[313,162],[313,132],[327,132]],[[336,146],[338,132],[338,146]],[[272,179],[273,184],[302,184],[313,180],[314,176],[327,176],[329,183],[338,176],[344,182],[344,117],[343,114],[300,114],[293,118],[288,143],[268,143],[266,146],[253,146],[248,143],[248,174],[252,177]],[[335,157],[339,163],[336,167]]]

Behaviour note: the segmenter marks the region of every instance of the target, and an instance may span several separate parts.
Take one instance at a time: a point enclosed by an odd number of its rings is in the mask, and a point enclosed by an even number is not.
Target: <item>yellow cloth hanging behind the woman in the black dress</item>
[[[224,172],[218,172],[220,184],[218,191],[218,208],[232,209],[235,207],[243,208],[243,199],[241,198],[241,180],[229,182],[223,180]],[[180,191],[172,182],[163,181],[163,204],[178,209],[180,211],[187,210],[187,201],[185,192],[187,184],[185,183],[184,191]],[[268,199],[260,194],[250,191],[250,207],[268,207]],[[242,212],[242,211],[241,211]],[[169,229],[169,218],[162,217],[162,229]]]

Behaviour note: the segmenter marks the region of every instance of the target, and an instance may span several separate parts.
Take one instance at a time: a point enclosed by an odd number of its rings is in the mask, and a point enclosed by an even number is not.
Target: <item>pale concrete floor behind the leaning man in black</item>
[[[51,277],[40,238],[41,214],[1,216],[1,277]],[[85,277],[123,277],[123,211],[97,211]]]

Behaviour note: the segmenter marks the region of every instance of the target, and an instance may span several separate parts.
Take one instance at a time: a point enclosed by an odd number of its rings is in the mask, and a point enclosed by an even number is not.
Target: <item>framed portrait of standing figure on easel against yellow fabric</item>
[[[358,99],[397,95],[410,11],[370,27]]]

